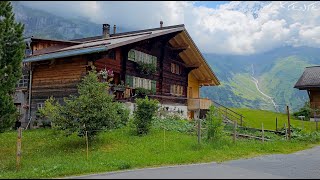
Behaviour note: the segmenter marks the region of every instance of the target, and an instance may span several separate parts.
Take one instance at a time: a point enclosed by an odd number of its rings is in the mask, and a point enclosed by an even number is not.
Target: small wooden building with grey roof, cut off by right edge
[[[310,120],[320,118],[320,66],[306,67],[294,88],[308,92],[312,109]]]

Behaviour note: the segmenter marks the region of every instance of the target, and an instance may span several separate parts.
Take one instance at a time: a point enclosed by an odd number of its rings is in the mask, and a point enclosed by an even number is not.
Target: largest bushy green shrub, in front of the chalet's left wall
[[[66,135],[77,132],[82,137],[88,131],[88,137],[92,139],[102,130],[125,124],[128,115],[123,106],[113,102],[113,96],[107,90],[107,83],[99,82],[93,70],[78,85],[79,96],[64,98],[64,105],[50,98],[41,113]]]

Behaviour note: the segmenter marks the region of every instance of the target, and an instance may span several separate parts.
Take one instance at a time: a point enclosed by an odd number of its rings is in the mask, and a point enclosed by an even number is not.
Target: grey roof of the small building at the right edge
[[[320,66],[306,67],[294,88],[300,90],[320,88]]]

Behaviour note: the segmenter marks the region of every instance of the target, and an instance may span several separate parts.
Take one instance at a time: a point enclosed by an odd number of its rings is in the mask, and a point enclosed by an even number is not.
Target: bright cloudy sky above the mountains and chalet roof
[[[95,23],[144,29],[185,24],[206,53],[254,54],[281,46],[320,47],[320,2],[26,1]]]

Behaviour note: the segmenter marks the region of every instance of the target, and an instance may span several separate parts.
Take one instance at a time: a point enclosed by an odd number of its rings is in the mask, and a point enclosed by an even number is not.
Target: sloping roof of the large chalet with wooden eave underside
[[[202,86],[219,85],[220,82],[218,78],[215,76],[210,66],[207,64],[205,58],[202,56],[201,52],[191,39],[183,24],[112,34],[109,38],[105,39],[103,39],[102,36],[74,39],[71,40],[71,42],[77,42],[76,45],[72,45],[55,51],[44,52],[43,54],[32,55],[24,59],[23,62],[44,61],[56,58],[102,52],[170,33],[178,33],[169,41],[172,47],[187,48],[179,55],[181,59],[185,61],[188,67],[197,67],[196,69],[192,70],[191,73],[196,77],[196,79],[199,80],[199,84]]]

